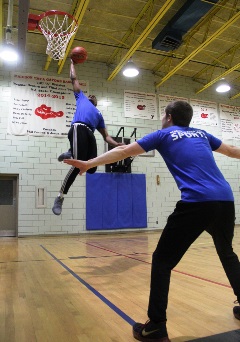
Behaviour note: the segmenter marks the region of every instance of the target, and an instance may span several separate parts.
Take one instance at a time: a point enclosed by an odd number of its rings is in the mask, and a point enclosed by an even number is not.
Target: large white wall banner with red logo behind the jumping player
[[[88,95],[88,82],[79,83]],[[76,108],[70,79],[13,73],[11,99],[9,134],[67,136]]]

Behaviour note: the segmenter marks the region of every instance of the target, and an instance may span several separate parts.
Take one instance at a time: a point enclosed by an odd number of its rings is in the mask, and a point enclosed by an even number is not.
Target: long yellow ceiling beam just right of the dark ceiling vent
[[[162,80],[156,84],[156,87],[162,85],[165,81],[167,81],[171,76],[173,76],[179,69],[181,69],[185,64],[187,64],[194,56],[196,56],[200,51],[202,51],[205,47],[207,47],[210,43],[212,43],[220,34],[222,34],[227,28],[229,28],[235,21],[240,18],[240,12],[236,13],[229,19],[222,27],[220,27],[212,36],[205,40],[201,45],[197,47],[194,51],[192,51],[186,58],[182,60],[175,68],[173,68],[167,75],[165,75]]]

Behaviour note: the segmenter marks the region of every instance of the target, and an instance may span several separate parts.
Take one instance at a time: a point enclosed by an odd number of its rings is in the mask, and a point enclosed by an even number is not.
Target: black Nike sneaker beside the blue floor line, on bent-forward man
[[[171,342],[168,338],[166,322],[135,323],[133,325],[133,337],[142,342]]]

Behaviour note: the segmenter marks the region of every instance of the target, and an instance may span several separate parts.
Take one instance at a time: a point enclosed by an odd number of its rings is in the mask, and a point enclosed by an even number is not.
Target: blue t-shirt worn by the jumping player
[[[73,116],[72,125],[75,122],[82,122],[89,126],[94,132],[95,129],[105,128],[105,122],[99,110],[89,101],[82,91],[74,92],[76,99],[76,111]]]

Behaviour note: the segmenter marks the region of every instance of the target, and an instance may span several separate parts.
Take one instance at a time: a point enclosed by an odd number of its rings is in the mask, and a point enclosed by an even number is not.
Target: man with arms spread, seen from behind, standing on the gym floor
[[[64,160],[80,168],[82,174],[89,168],[156,149],[181,191],[181,201],[177,202],[174,212],[168,217],[153,253],[149,320],[133,326],[133,336],[139,341],[169,341],[166,310],[171,270],[203,231],[212,236],[224,271],[240,303],[240,264],[232,249],[234,198],[212,153],[215,151],[240,159],[240,148],[224,144],[203,130],[189,127],[192,116],[193,109],[187,102],[171,102],[166,107],[161,130],[93,160]],[[233,313],[240,320],[240,306],[235,306]]]

